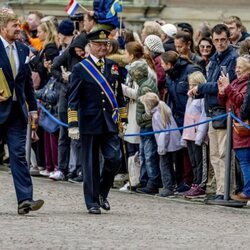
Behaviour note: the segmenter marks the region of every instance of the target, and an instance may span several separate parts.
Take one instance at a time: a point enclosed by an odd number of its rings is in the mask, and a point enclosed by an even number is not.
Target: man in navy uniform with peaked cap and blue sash
[[[123,104],[118,66],[106,59],[109,32],[89,33],[90,55],[74,66],[70,76],[69,136],[81,139],[84,197],[91,214],[110,210],[107,196],[121,164],[117,112]],[[79,117],[79,123],[78,123]],[[104,158],[100,173],[99,150]]]

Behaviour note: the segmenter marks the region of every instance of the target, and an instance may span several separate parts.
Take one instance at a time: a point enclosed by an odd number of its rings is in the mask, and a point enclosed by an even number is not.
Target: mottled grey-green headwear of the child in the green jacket
[[[140,81],[148,77],[148,65],[145,60],[137,60],[130,64],[128,73],[133,81]]]

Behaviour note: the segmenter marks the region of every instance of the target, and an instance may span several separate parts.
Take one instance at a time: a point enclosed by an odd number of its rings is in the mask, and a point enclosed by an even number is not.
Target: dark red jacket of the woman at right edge
[[[240,107],[246,95],[248,80],[249,77],[244,77],[241,80],[236,79],[225,88],[224,94],[218,94],[219,103],[226,107],[227,111],[232,110],[238,117],[240,117]],[[248,147],[250,147],[250,136],[240,137],[233,130],[233,148]]]

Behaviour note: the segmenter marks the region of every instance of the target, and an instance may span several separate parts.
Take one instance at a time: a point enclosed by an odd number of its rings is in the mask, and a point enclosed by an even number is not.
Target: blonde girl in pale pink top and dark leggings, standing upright
[[[205,83],[206,79],[200,71],[193,72],[188,76],[189,88]],[[193,99],[189,97],[184,126],[206,121],[204,98]],[[207,139],[208,123],[197,125],[183,130],[182,145],[187,146],[189,158],[193,168],[193,184],[189,191],[184,193],[187,197],[205,195],[205,183],[207,181]]]

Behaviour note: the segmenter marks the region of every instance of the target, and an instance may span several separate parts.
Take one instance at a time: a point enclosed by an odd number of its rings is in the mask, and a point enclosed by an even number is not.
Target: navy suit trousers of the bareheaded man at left
[[[13,102],[9,118],[0,125],[0,137],[6,136],[18,202],[33,199],[32,180],[25,154],[26,132],[27,124],[21,115],[19,103]]]

